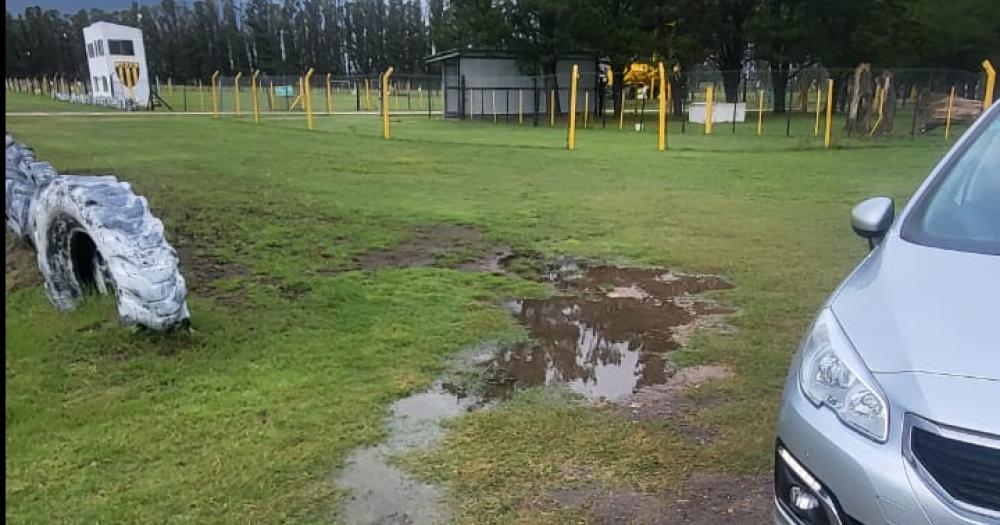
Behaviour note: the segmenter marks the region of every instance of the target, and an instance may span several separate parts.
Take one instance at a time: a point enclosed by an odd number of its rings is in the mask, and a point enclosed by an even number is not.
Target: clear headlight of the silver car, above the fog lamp
[[[885,396],[828,308],[802,345],[799,385],[814,405],[833,410],[845,425],[878,442],[888,438]]]

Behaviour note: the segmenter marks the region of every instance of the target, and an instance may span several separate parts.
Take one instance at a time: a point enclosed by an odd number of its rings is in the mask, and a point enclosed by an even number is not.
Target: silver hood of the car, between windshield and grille
[[[830,307],[872,372],[1000,380],[1000,257],[890,236]]]

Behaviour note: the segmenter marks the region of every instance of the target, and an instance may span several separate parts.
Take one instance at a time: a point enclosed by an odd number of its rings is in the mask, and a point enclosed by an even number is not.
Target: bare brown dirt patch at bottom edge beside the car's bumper
[[[601,525],[764,524],[770,520],[766,476],[692,474],[684,487],[661,494],[620,488],[557,489],[523,504],[525,510],[582,509]]]

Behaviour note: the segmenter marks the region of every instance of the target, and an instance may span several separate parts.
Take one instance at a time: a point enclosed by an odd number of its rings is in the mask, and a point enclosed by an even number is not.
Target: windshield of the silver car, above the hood
[[[903,227],[911,242],[1000,255],[1000,118],[945,167]]]

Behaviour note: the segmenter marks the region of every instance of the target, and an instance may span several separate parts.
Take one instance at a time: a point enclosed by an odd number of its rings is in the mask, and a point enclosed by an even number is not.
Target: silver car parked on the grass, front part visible
[[[1000,524],[1000,104],[893,214],[792,361],[777,524]]]

